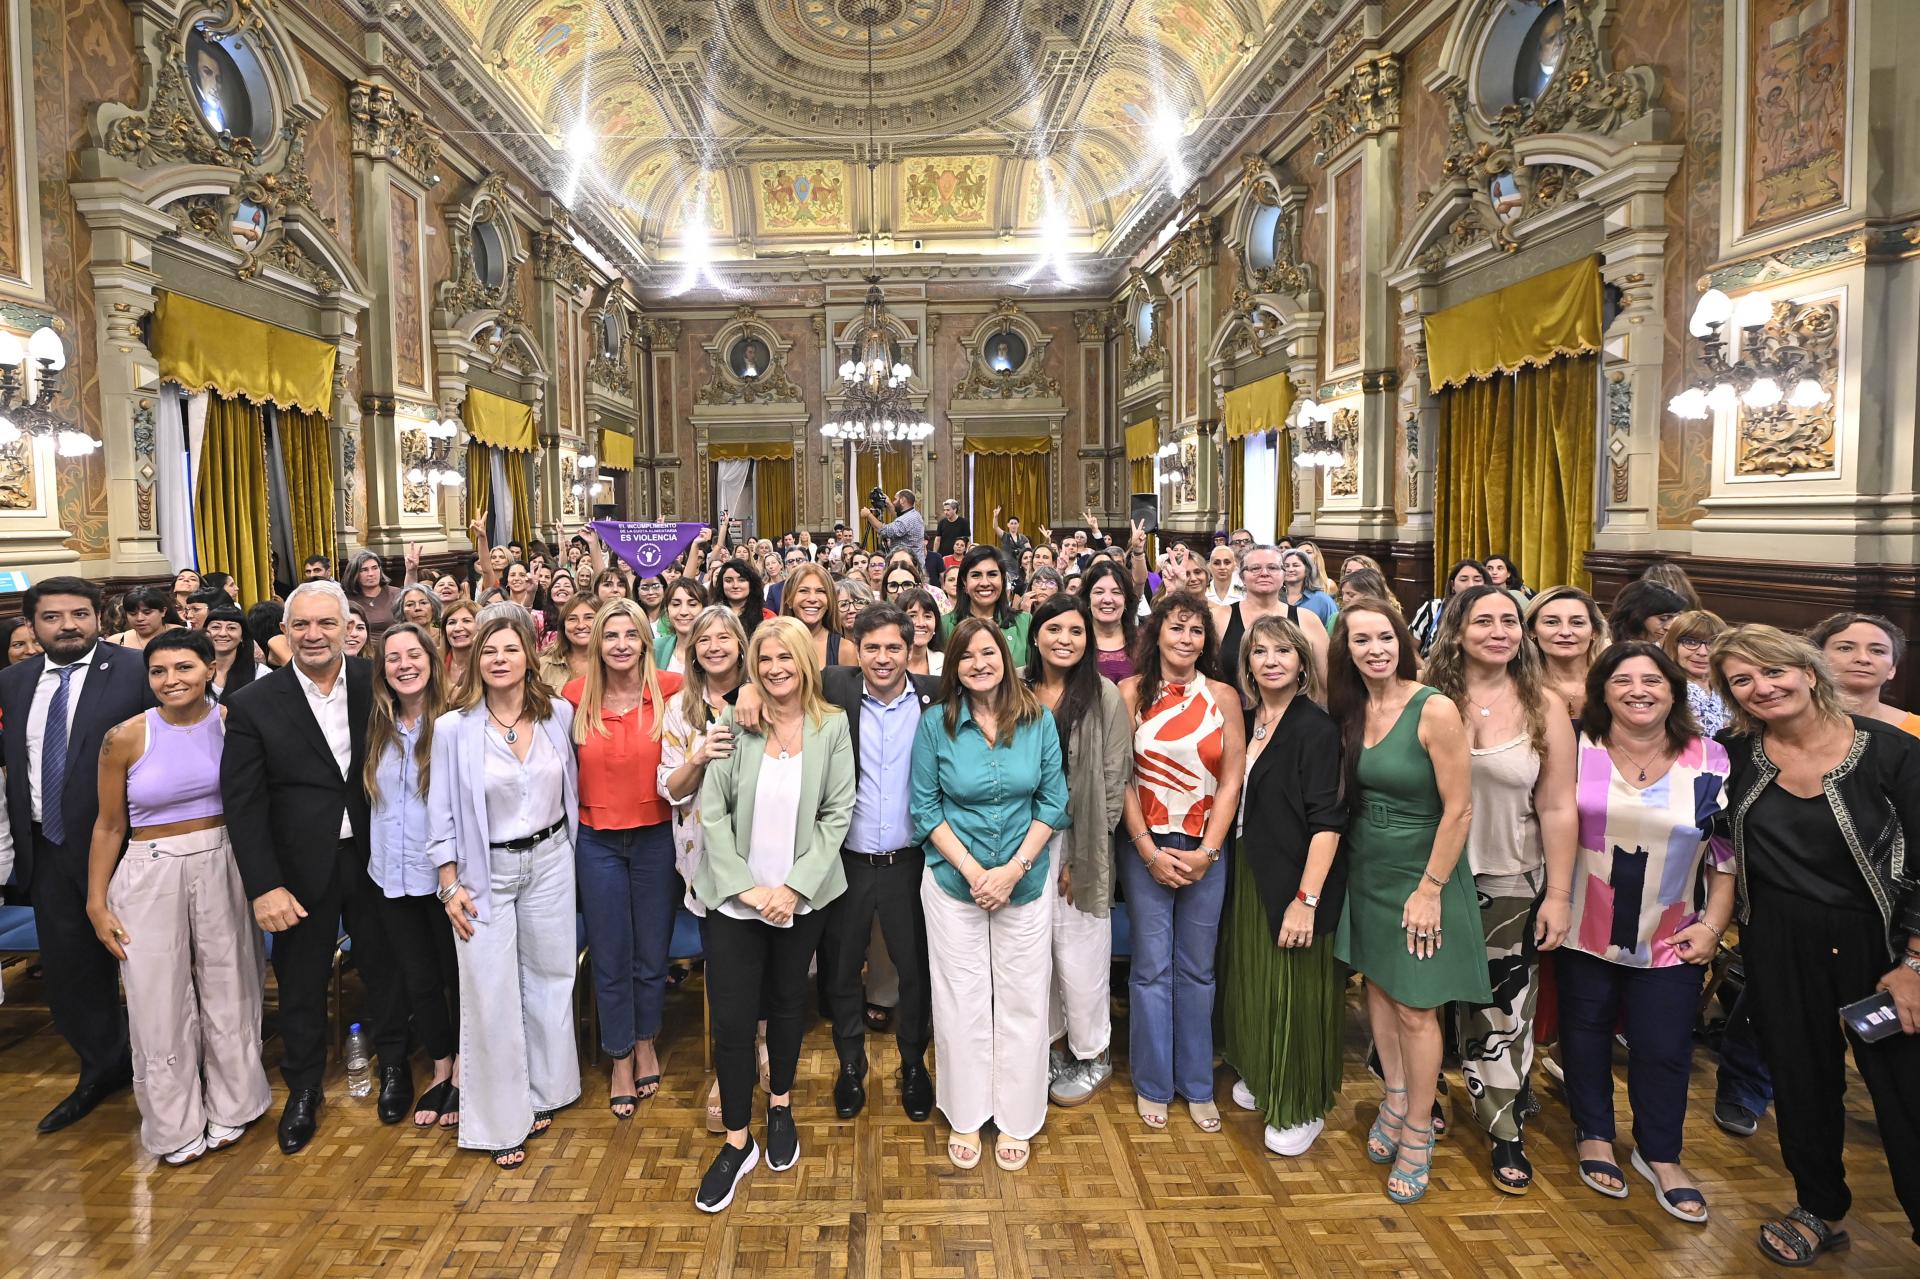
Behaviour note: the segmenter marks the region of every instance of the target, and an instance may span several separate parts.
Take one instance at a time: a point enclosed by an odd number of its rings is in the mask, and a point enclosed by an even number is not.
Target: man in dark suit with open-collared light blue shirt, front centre
[[[933,1079],[925,1066],[933,1004],[927,922],[920,912],[920,874],[927,855],[914,843],[910,799],[914,737],[939,680],[906,672],[912,634],[914,624],[900,609],[868,605],[852,626],[860,664],[826,670],[826,697],[847,712],[852,732],[856,776],[852,824],[841,849],[847,891],[828,906],[820,943],[833,1008],[833,1049],[841,1062],[833,1110],[843,1120],[866,1106],[866,987],[860,970],[876,916],[887,954],[900,974],[893,1026],[900,1045],[900,1106],[916,1122],[933,1112]]]

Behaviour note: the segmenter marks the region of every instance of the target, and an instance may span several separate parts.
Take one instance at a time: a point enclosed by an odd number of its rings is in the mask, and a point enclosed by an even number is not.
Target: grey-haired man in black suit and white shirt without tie
[[[372,666],[346,657],[348,599],[336,582],[301,582],[286,599],[284,632],[294,661],[253,680],[227,703],[221,799],[240,881],[253,920],[273,933],[286,1049],[280,1150],[311,1139],[326,1070],[326,987],[342,910],[353,922],[374,891],[367,878],[367,712]],[[369,999],[386,997],[378,956],[355,947]],[[382,1062],[380,1108],[405,1091],[403,1062]]]

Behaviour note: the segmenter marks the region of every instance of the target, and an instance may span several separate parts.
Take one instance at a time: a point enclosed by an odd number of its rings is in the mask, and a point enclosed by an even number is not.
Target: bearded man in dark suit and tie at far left
[[[6,807],[17,883],[33,897],[54,1026],[81,1079],[40,1120],[54,1133],[132,1083],[119,962],[86,918],[86,857],[100,816],[100,739],[154,705],[140,655],[100,640],[100,588],[46,578],[27,590],[40,657],[0,670]]]

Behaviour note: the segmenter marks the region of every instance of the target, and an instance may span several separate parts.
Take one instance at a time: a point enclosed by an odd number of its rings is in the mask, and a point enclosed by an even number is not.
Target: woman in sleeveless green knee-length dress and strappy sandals
[[[1367,1158],[1394,1166],[1386,1195],[1396,1204],[1427,1195],[1432,1122],[1409,1116],[1432,1110],[1440,1006],[1494,999],[1461,857],[1473,808],[1467,730],[1432,693],[1419,684],[1413,634],[1392,605],[1361,599],[1342,609],[1327,653],[1327,709],[1340,724],[1352,814],[1334,956],[1367,977],[1386,1081]]]

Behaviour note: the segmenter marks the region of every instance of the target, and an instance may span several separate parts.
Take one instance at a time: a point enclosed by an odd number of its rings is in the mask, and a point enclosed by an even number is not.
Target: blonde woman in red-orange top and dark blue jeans
[[[588,674],[566,686],[580,755],[576,870],[593,958],[601,1050],[612,1058],[609,1106],[628,1120],[660,1089],[666,947],[674,935],[672,808],[660,795],[660,728],[680,676],[653,666],[653,628],[632,599],[593,618]]]

